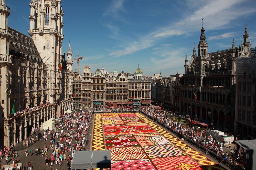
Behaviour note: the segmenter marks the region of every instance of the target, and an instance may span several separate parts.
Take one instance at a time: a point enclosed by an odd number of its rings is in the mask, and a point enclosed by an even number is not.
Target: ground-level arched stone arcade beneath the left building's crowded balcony
[[[54,117],[55,108],[53,104],[43,106],[33,111],[19,114],[12,118],[5,119],[4,124],[4,142],[7,146],[22,142],[37,129],[42,128],[42,124],[48,119]]]

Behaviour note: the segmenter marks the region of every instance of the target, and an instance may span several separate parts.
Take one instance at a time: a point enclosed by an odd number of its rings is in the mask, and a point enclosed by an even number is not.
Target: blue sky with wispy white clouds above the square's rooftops
[[[27,34],[30,0],[6,0],[11,8],[8,26]],[[247,24],[249,39],[256,46],[255,0],[63,0],[63,52],[69,37],[79,73],[89,65],[93,73],[134,72],[144,75],[184,73],[186,53],[199,42],[204,17],[208,52],[239,45]],[[189,57],[190,58],[190,57]],[[73,69],[76,62],[73,62]]]

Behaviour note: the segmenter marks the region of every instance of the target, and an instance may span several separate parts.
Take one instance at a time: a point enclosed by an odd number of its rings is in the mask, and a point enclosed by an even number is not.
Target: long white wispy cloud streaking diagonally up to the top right
[[[240,4],[242,4],[244,1],[245,0],[204,1],[202,5],[197,5],[197,9],[194,10],[194,12],[186,14],[186,16],[189,17],[186,17],[179,22],[171,23],[167,27],[160,28],[154,32],[142,36],[139,38],[136,44],[127,43],[124,49],[113,51],[109,55],[119,57],[135,53],[136,51],[143,50],[155,45],[159,40],[163,38],[171,37],[174,35],[189,36],[192,32],[201,30],[202,16],[205,18],[204,28],[206,30],[216,30],[231,27],[231,21],[240,18],[241,16],[252,14],[256,11],[256,8],[241,6]],[[187,8],[190,9],[189,6]]]

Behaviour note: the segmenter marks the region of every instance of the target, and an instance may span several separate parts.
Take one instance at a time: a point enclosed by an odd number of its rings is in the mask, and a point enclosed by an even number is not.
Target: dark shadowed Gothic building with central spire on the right
[[[250,57],[247,27],[241,46],[208,53],[204,28],[201,29],[198,55],[194,45],[191,61],[185,57],[185,74],[180,87],[180,112],[218,128],[233,131],[236,60]],[[194,94],[195,93],[195,94]]]

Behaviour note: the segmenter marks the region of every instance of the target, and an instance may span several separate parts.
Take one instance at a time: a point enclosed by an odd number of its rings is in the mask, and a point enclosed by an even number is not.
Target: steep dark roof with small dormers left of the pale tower
[[[36,45],[33,39],[11,27],[8,27],[11,32],[11,38],[9,40],[9,54],[17,57],[36,59],[40,62],[41,56],[37,51]],[[25,55],[26,54],[26,55]],[[39,54],[39,55],[38,55]]]

